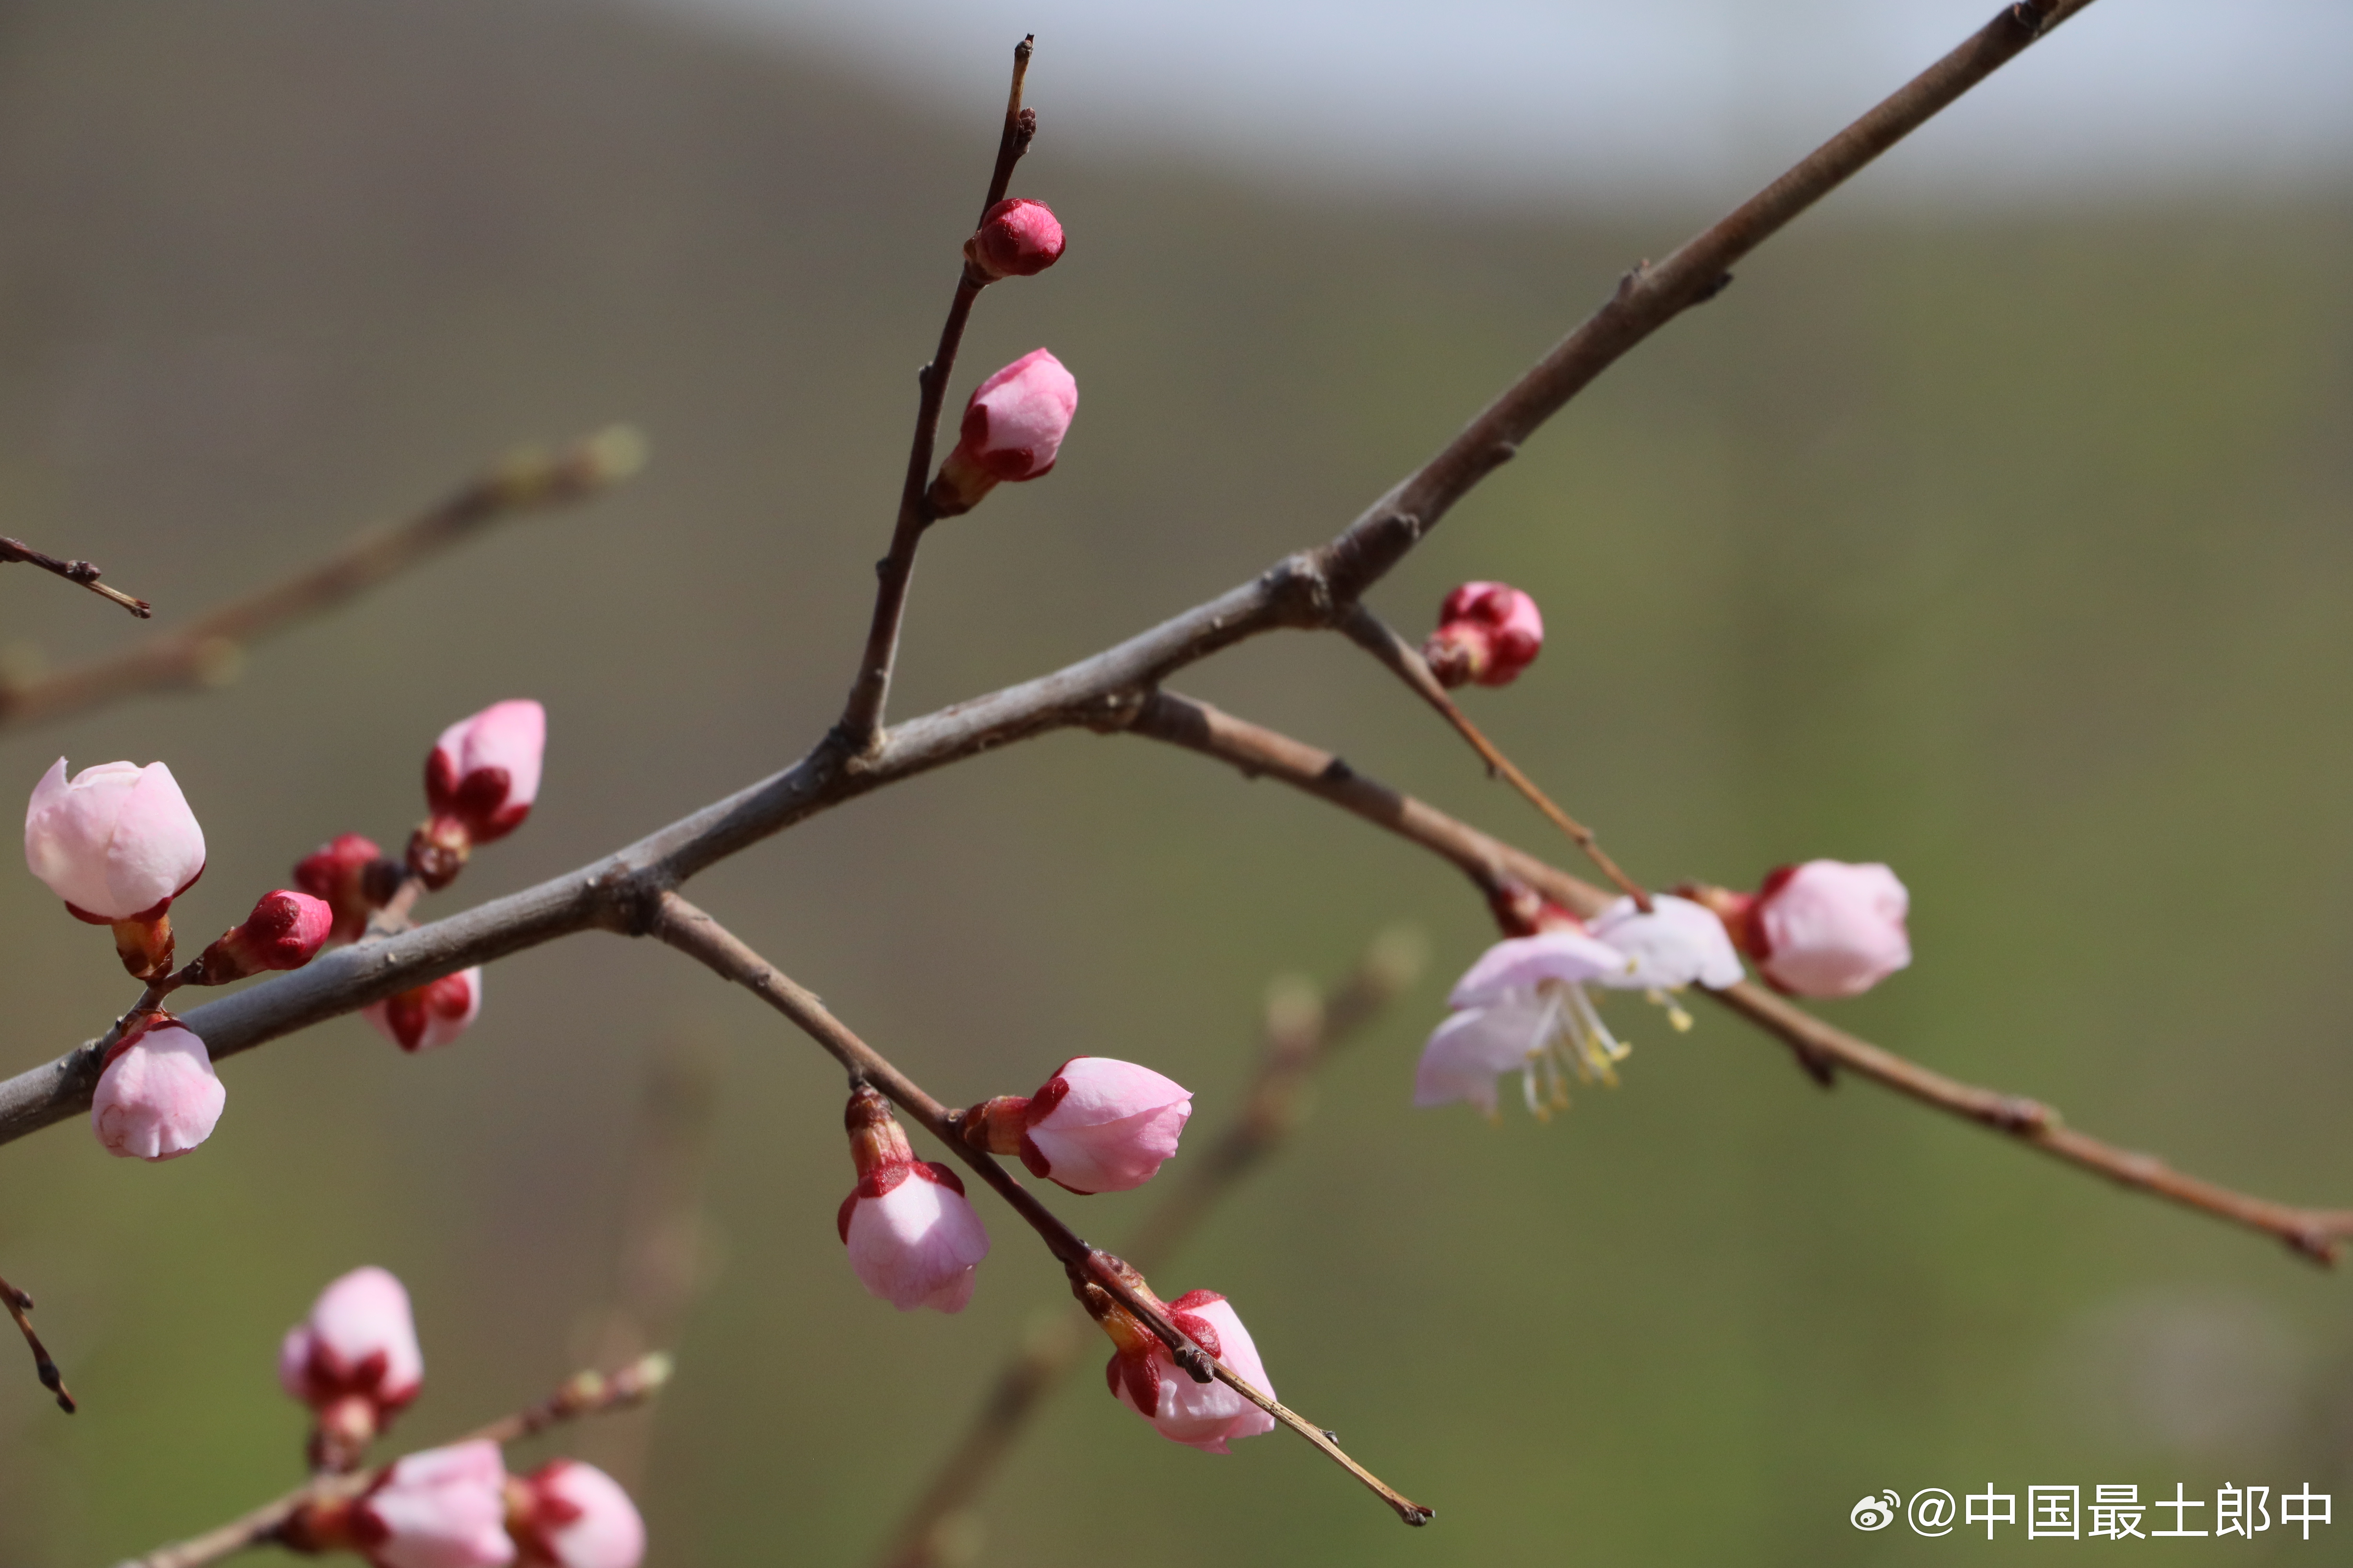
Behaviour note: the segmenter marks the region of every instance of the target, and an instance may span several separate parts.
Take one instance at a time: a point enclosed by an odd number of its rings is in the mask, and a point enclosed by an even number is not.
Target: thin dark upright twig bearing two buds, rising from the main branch
[[[1038,134],[1038,110],[1021,108],[1021,82],[1028,78],[1035,42],[1033,33],[1014,45],[1014,85],[1005,94],[1005,129],[998,134],[998,162],[988,174],[988,197],[981,202],[981,219],[1005,200],[1005,188],[1014,179],[1014,165],[1021,162],[1031,136]],[[906,590],[915,578],[915,550],[922,545],[922,531],[939,520],[929,501],[932,451],[939,444],[939,411],[948,400],[948,378],[955,374],[955,350],[965,341],[972,301],[986,287],[988,277],[967,261],[955,277],[948,320],[939,329],[939,348],[932,350],[932,362],[915,374],[915,435],[906,449],[899,522],[892,527],[889,555],[875,562],[875,614],[866,630],[859,677],[849,686],[849,701],[842,705],[840,736],[852,755],[866,752],[882,729],[882,710],[889,703],[889,672],[899,658],[899,623],[906,618]]]

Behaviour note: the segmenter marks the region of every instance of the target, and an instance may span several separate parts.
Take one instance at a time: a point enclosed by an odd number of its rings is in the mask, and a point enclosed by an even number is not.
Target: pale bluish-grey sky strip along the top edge
[[[1988,0],[635,0],[986,110],[1040,38],[1054,134],[1478,197],[1720,197],[1953,47]],[[1873,181],[2078,200],[2353,169],[2353,5],[2106,0]]]

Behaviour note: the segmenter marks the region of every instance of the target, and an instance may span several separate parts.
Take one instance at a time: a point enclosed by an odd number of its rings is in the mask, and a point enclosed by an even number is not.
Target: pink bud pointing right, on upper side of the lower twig
[[[1127,1192],[1160,1171],[1193,1114],[1193,1091],[1151,1067],[1073,1056],[1038,1093],[965,1112],[965,1143],[1019,1154],[1031,1175],[1071,1192]]]

